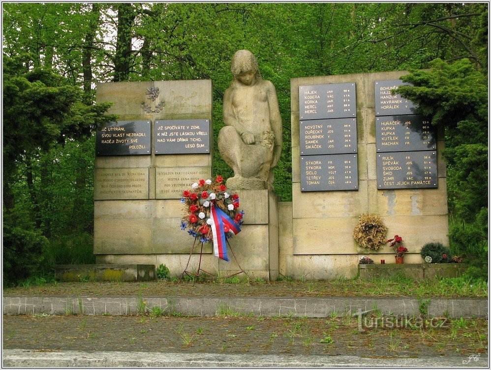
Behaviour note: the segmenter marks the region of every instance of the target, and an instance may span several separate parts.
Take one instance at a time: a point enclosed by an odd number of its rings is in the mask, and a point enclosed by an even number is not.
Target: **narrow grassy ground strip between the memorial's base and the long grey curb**
[[[4,296],[275,296],[275,297],[486,297],[486,289],[469,287],[456,290],[451,285],[436,289],[424,282],[369,282],[360,280],[315,280],[271,282],[175,282],[156,280],[146,282],[58,282],[40,286],[18,286],[3,290]]]

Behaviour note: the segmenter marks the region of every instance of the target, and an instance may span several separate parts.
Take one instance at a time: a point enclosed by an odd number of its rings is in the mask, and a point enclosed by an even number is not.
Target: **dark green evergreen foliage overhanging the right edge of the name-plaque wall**
[[[399,92],[445,128],[451,248],[486,266],[488,257],[488,78],[469,60],[434,60]],[[487,274],[484,274],[487,275]]]

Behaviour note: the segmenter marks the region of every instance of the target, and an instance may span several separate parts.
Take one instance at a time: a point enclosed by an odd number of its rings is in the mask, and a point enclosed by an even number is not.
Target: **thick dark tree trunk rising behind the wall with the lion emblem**
[[[127,81],[131,60],[131,31],[136,13],[131,3],[118,4],[118,34],[114,61],[114,81]]]

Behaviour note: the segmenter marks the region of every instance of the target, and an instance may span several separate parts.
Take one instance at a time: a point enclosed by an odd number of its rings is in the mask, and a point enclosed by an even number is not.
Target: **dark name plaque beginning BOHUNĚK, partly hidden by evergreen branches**
[[[401,80],[375,81],[375,116],[394,116],[415,114],[416,106],[411,100],[399,94],[392,95],[392,90],[402,85],[411,85]]]

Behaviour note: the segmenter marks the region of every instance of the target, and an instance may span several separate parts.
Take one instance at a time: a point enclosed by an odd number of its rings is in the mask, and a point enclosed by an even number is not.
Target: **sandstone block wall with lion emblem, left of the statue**
[[[147,89],[152,87],[159,89],[154,102],[146,95]],[[118,121],[150,121],[152,133],[156,120],[210,120],[213,138],[212,96],[210,80],[114,82],[98,84],[96,100],[113,101],[109,113],[118,114]],[[161,107],[155,107],[159,103]],[[97,156],[94,183],[104,172],[119,171],[125,173],[123,176],[140,174],[143,187],[148,187],[143,195],[136,196],[137,199],[126,195],[120,197],[123,199],[116,199],[116,196],[102,199],[95,186],[94,254],[97,263],[156,266],[165,263],[176,274],[182,272],[193,241],[179,228],[183,216],[179,198],[183,188],[170,194],[163,194],[159,189],[167,183],[166,173],[177,174],[175,177],[186,186],[196,178],[211,178],[211,153],[213,139],[210,154],[161,155],[153,154],[152,140],[149,155]],[[211,253],[209,244],[205,245],[205,251]],[[205,259],[216,266],[211,257],[208,254]]]

